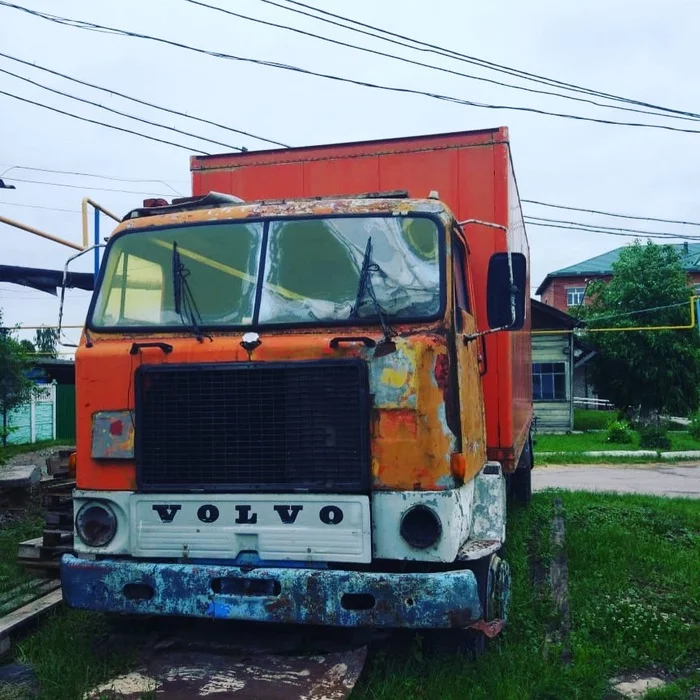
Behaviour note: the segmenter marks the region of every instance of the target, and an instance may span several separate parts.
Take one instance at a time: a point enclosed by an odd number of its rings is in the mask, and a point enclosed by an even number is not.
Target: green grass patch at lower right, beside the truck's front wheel
[[[692,670],[700,661],[700,504],[558,497],[566,514],[570,665],[562,663],[560,646],[545,642],[556,617],[546,586],[530,580],[533,561],[549,557],[553,496],[540,493],[509,523],[513,604],[509,625],[489,653],[470,662],[457,655],[430,659],[418,645],[386,651],[369,662],[352,700],[602,700],[610,697],[608,682],[617,673]],[[697,687],[679,683],[680,693]],[[689,697],[666,692],[659,697]]]

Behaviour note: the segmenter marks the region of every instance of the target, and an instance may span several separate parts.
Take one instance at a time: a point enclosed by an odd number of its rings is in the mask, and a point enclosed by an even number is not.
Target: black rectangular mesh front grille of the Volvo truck
[[[143,491],[366,491],[366,365],[143,366],[136,472]]]

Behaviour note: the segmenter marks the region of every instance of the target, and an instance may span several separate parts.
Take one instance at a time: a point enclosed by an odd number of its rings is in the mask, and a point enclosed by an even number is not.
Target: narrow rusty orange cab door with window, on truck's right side
[[[451,249],[455,357],[466,482],[483,467],[486,461],[484,399],[481,383],[481,376],[486,371],[486,357],[483,354],[484,345],[481,339],[472,337],[477,328],[468,277],[469,249],[457,229],[452,232]]]

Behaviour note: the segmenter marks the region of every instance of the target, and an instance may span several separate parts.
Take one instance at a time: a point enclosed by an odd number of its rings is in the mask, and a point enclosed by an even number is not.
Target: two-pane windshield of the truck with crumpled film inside
[[[438,231],[426,217],[363,216],[127,233],[110,246],[91,325],[188,325],[183,279],[202,327],[435,316]]]

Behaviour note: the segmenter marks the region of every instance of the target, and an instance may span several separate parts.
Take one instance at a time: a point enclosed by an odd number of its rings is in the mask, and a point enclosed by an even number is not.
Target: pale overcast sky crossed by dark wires
[[[695,48],[700,5],[694,0],[669,0],[663,5],[655,0],[433,0],[429,4],[416,0],[306,1],[375,27],[519,70],[677,110],[700,111]],[[543,88],[446,57],[386,44],[262,0],[208,2],[412,60]],[[303,9],[288,0],[276,2]],[[700,131],[700,123],[693,121],[595,107],[408,65],[224,15],[187,0],[16,0],[15,4],[210,51],[462,100]],[[521,198],[700,221],[700,133],[587,123],[385,92],[250,62],[223,60],[154,41],[62,26],[2,5],[0,52],[293,146],[507,126]],[[16,187],[0,189],[0,216],[75,243],[82,238],[83,197],[89,196],[123,215],[139,206],[144,197],[189,194],[189,156],[197,149],[221,153],[232,147],[271,147],[248,136],[78,85],[2,56],[0,71],[10,71],[97,105],[193,134],[186,136],[134,122],[0,72],[2,92],[184,146],[85,123],[0,94],[0,177]],[[610,219],[529,204],[523,209],[531,216],[700,234],[700,229],[690,226]],[[114,225],[111,219],[102,217],[101,235],[107,235]],[[528,237],[533,294],[549,271],[632,240],[535,226],[528,227]],[[60,269],[72,252],[0,223],[0,264]],[[71,269],[90,271],[91,266],[88,254]],[[89,296],[88,292],[68,292],[65,323],[82,324]],[[58,300],[26,287],[0,284],[0,308],[7,325],[54,325],[58,319]],[[21,337],[32,335],[29,329],[21,333]],[[66,331],[67,340],[77,341],[78,337],[78,330]]]

